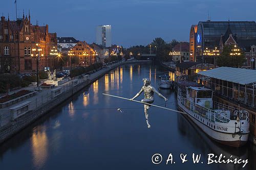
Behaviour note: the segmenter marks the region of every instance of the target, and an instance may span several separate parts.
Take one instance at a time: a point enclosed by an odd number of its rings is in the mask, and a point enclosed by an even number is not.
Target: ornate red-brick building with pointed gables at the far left
[[[36,46],[38,44],[38,46]],[[48,25],[33,26],[29,17],[10,21],[1,17],[0,21],[0,72],[32,72],[36,70],[36,57],[33,48],[41,48],[39,69],[56,68],[53,47],[57,48],[56,33],[48,32]]]

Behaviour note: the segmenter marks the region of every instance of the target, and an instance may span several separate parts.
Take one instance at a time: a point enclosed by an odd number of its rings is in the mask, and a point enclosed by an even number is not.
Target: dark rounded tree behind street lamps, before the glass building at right
[[[218,66],[226,66],[226,67],[241,67],[243,63],[246,61],[244,52],[240,49],[239,51],[232,51],[234,46],[225,45],[223,47],[223,51],[221,55],[217,58]],[[240,53],[240,55],[230,55],[230,53]]]

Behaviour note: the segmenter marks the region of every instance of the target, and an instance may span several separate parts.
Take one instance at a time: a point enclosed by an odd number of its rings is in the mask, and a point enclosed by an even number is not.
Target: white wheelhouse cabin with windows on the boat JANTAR
[[[211,109],[212,106],[212,90],[205,87],[187,87],[187,100],[197,105]]]

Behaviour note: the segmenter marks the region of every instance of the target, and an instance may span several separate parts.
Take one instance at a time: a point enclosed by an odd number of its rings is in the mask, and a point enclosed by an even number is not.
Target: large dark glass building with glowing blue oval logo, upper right
[[[196,61],[206,62],[208,56],[204,56],[206,49],[219,48],[221,35],[224,35],[227,28],[230,28],[233,35],[236,35],[238,44],[241,40],[255,40],[255,21],[199,21],[196,39]]]

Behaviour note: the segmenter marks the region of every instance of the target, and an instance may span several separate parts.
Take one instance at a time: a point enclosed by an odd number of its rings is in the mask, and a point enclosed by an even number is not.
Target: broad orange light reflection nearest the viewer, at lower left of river
[[[48,138],[45,126],[38,126],[34,129],[31,143],[33,165],[41,168],[45,165],[48,156]]]

